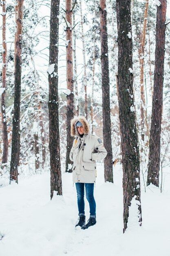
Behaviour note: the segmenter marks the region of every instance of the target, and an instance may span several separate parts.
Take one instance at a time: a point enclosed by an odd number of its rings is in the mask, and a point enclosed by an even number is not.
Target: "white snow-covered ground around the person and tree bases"
[[[50,174],[34,175],[0,189],[0,256],[170,256],[170,171],[163,193],[142,188],[142,227],[136,222],[123,234],[121,166],[114,168],[114,184],[104,183],[97,168],[95,200],[97,224],[75,229],[76,189],[70,173],[62,174],[63,196],[50,201]],[[86,203],[86,220],[89,217]],[[135,220],[131,211],[130,222]]]

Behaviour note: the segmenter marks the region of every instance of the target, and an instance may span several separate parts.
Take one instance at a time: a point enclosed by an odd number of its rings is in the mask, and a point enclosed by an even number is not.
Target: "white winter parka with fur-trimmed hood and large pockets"
[[[84,135],[81,137],[76,124],[80,121],[84,127]],[[90,134],[88,121],[85,117],[75,117],[71,121],[71,135],[76,136],[70,152],[73,161],[73,182],[95,183],[96,161],[106,157],[107,151],[101,139]]]

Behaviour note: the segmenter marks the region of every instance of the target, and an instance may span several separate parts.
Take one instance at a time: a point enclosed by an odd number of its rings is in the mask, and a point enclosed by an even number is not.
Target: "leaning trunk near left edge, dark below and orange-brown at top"
[[[12,124],[12,148],[11,148],[11,166],[10,182],[15,180],[18,183],[18,164],[20,156],[20,99],[21,99],[21,65],[22,65],[22,21],[23,21],[24,0],[18,0],[18,17],[16,33],[16,53],[15,53],[15,93],[13,107]]]

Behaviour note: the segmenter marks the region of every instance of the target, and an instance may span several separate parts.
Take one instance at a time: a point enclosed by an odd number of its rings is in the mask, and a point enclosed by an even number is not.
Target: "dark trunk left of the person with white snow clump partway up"
[[[60,0],[51,0],[49,46],[49,150],[51,174],[51,199],[54,191],[62,195],[60,163],[60,134],[58,117],[58,34]]]

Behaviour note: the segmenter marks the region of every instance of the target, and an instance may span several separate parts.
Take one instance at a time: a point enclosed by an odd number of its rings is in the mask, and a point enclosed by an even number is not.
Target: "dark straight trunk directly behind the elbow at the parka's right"
[[[103,139],[107,150],[104,159],[104,180],[113,182],[113,156],[111,141],[110,120],[110,82],[108,67],[108,34],[106,0],[100,0],[100,41],[101,41],[101,65],[102,65],[102,110],[103,110]]]

